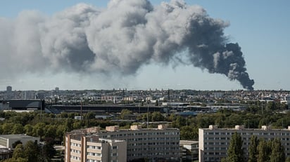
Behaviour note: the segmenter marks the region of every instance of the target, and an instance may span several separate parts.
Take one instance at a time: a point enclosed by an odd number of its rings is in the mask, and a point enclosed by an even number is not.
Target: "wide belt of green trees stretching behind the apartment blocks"
[[[133,113],[123,109],[119,119],[126,119]],[[246,128],[260,128],[263,125],[270,125],[272,128],[286,128],[290,126],[290,114],[272,113],[257,114],[248,111],[234,112],[223,109],[215,114],[198,114],[197,116],[178,116],[170,114],[166,116],[160,112],[134,114],[137,121],[169,121],[171,126],[180,129],[182,140],[198,140],[198,128],[208,128],[209,125],[217,125],[219,128],[234,128],[236,125],[244,125]],[[130,122],[116,123],[111,120],[95,119],[94,112],[84,114],[84,120],[76,120],[79,113],[40,114],[38,112],[0,112],[0,133],[1,134],[27,134],[35,137],[51,137],[59,142],[63,141],[65,132],[80,128],[99,126],[119,125],[129,128]]]

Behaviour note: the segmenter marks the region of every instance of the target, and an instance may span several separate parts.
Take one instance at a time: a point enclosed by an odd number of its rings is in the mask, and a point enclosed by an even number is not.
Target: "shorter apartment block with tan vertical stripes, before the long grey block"
[[[65,135],[65,162],[125,162],[126,151],[124,140],[101,139],[84,131]]]

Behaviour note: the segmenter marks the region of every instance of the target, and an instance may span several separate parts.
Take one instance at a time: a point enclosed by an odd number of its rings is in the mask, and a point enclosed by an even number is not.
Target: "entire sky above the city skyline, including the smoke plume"
[[[0,90],[290,90],[290,2],[1,1]]]

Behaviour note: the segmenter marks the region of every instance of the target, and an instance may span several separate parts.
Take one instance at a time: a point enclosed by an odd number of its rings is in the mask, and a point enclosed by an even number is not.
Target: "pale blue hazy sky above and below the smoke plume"
[[[105,0],[3,0],[0,2],[0,20],[4,21],[0,23],[17,21],[24,13],[23,11],[33,11],[39,13],[42,18],[51,18],[80,3],[90,4],[102,11],[106,10],[108,2]],[[150,2],[153,6],[160,6],[161,3],[159,0],[150,0]],[[246,61],[246,72],[255,81],[253,88],[256,90],[278,90],[280,88],[290,90],[290,1],[187,0],[185,2],[189,6],[201,6],[210,18],[229,22],[229,26],[225,27],[225,36],[229,38],[229,42],[239,43],[241,46]],[[47,26],[49,27],[49,25]],[[55,87],[63,90],[113,88],[237,90],[243,88],[239,81],[230,81],[224,74],[210,74],[208,69],[201,69],[189,64],[175,64],[175,62],[169,62],[168,65],[145,62],[137,68],[136,73],[118,76],[118,72],[116,75],[115,73],[104,75],[98,72],[82,72],[82,70],[77,72],[62,70],[58,66],[52,71],[43,69],[42,72],[42,67],[46,65],[42,63],[43,60],[36,58],[34,62],[39,61],[39,68],[22,67],[27,71],[23,70],[23,72],[13,74],[15,72],[9,68],[6,70],[6,67],[13,64],[16,64],[15,67],[17,67],[21,62],[4,61],[6,52],[11,52],[11,50],[6,50],[5,45],[5,40],[10,41],[10,39],[4,38],[7,36],[4,30],[7,30],[8,27],[10,26],[0,24],[0,43],[3,43],[0,44],[0,64],[2,64],[0,65],[0,90],[5,90],[6,86],[12,86],[13,90],[51,90]],[[27,27],[27,29],[31,29],[31,27]],[[26,39],[22,36],[27,36],[27,34],[29,31],[17,38],[25,41]],[[18,39],[12,40],[18,41]],[[30,43],[25,42],[24,45],[21,45],[28,46],[28,44]],[[187,51],[181,53],[187,53]],[[11,57],[18,57],[22,62],[26,62],[27,55],[12,55]],[[31,55],[31,57],[34,56]],[[96,69],[99,70],[99,67]]]

